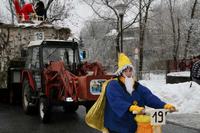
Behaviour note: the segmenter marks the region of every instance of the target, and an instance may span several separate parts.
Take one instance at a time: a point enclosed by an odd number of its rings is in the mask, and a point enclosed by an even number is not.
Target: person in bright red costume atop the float
[[[21,7],[19,1],[14,0],[14,5],[18,21],[29,21],[30,15],[35,14],[33,3],[26,3]]]

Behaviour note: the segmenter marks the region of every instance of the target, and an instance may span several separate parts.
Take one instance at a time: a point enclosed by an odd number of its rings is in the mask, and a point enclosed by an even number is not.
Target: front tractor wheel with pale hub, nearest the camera
[[[51,108],[47,98],[41,97],[39,103],[40,119],[43,123],[48,123],[51,116]]]

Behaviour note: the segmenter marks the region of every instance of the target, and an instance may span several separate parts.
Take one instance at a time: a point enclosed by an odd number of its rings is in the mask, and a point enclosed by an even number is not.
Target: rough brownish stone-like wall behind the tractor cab
[[[19,60],[21,50],[36,39],[67,40],[69,28],[51,24],[0,24],[0,88],[6,88],[7,68],[10,60]]]

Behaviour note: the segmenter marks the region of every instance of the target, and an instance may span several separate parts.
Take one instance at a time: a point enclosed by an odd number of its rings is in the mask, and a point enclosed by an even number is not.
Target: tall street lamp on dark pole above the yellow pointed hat
[[[118,15],[120,17],[120,36],[121,36],[121,52],[123,52],[123,17],[127,8],[127,5],[124,4],[123,1],[116,4],[115,9],[118,12]]]

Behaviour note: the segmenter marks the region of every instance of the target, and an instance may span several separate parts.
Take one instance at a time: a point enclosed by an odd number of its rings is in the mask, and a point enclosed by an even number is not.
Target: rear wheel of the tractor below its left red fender
[[[33,110],[33,107],[30,106],[30,97],[31,97],[31,88],[29,86],[28,80],[24,79],[22,84],[22,106],[26,114],[30,114]]]

